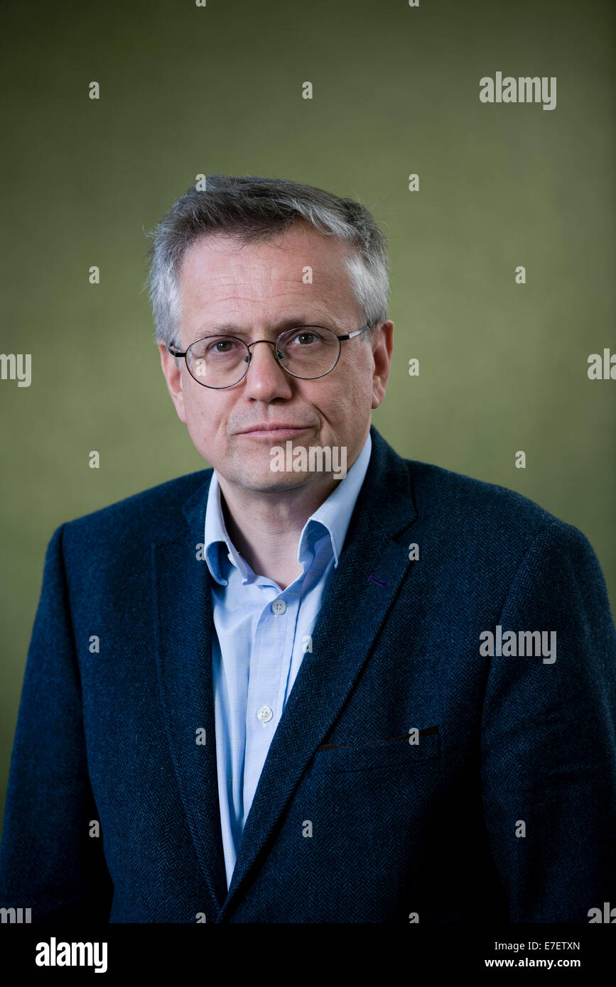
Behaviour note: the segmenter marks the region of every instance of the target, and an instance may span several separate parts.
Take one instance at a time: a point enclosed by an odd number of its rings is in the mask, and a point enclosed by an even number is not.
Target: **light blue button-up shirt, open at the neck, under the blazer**
[[[306,521],[302,572],[286,589],[256,575],[234,547],[216,472],[205,508],[205,561],[213,578],[212,674],[218,800],[227,886],[274,730],[293,688],[324,593],[345,544],[370,459],[370,433],[346,477]]]

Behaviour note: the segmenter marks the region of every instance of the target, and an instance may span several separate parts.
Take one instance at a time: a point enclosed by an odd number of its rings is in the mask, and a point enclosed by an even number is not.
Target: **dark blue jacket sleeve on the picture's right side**
[[[541,656],[489,658],[483,799],[509,921],[587,923],[616,905],[616,632],[577,528],[537,535],[498,623],[556,632],[553,655],[548,634]]]

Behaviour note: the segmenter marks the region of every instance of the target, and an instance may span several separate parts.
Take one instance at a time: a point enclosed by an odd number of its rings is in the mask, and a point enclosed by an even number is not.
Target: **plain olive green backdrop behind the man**
[[[0,351],[32,353],[33,383],[0,381],[0,797],[51,533],[208,465],[143,290],[144,229],[199,173],[372,210],[396,324],[376,427],[575,524],[614,607],[616,381],[586,374],[589,353],[616,351],[613,4],[35,2],[5,3],[3,22]],[[556,76],[556,109],[480,103],[497,71]]]

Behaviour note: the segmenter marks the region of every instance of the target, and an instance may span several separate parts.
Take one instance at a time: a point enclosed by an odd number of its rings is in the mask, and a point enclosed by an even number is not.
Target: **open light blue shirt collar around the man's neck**
[[[298,563],[302,563],[307,554],[315,548],[317,542],[329,536],[334,555],[334,566],[338,568],[350,516],[366,475],[371,449],[372,439],[368,431],[361,451],[348,469],[344,480],[337,483],[328,498],[323,501],[320,507],[317,507],[304,524],[297,545]],[[243,576],[242,581],[247,581],[252,569],[238,554],[229,537],[220,503],[220,484],[215,470],[212,472],[207,493],[203,540],[205,562],[216,582],[223,586],[228,582],[225,578],[225,556],[230,556],[228,561],[240,570]]]

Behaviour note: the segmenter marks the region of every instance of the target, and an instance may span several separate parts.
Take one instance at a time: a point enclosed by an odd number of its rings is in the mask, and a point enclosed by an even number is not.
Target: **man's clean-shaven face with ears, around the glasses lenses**
[[[271,340],[294,325],[326,326],[339,336],[362,326],[343,265],[345,246],[297,222],[268,241],[245,246],[224,234],[197,241],[181,270],[181,348],[216,333],[247,343]],[[304,283],[305,268],[312,283]],[[229,328],[230,326],[234,328]],[[375,340],[341,343],[334,369],[316,380],[291,377],[273,356],[273,346],[252,347],[248,374],[238,384],[214,390],[198,384],[182,361],[160,344],[163,371],[178,416],[186,422],[201,456],[229,484],[275,492],[323,485],[323,475],[274,472],[274,446],[346,446],[347,469],[358,455],[387,386],[393,324]],[[293,425],[290,434],[245,433],[264,423]],[[331,477],[329,478],[331,482]]]

